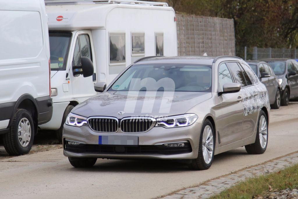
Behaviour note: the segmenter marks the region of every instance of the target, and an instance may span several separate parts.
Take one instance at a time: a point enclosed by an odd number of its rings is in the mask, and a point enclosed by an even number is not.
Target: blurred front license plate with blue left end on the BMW
[[[138,136],[117,136],[117,135],[100,135],[98,137],[98,144],[109,145],[138,145]]]

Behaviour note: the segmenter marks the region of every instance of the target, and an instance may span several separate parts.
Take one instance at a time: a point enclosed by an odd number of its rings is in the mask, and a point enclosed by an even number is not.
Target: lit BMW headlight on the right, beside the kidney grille
[[[175,115],[170,117],[160,117],[156,119],[156,126],[162,126],[165,128],[189,126],[195,123],[198,116],[193,113]]]

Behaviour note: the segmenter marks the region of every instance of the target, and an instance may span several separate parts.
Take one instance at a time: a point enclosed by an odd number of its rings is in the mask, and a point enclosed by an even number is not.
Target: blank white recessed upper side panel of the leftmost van
[[[0,60],[34,58],[44,45],[37,11],[0,10]]]

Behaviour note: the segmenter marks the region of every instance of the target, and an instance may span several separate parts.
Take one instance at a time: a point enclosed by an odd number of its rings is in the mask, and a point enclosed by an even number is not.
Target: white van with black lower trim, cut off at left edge
[[[43,0],[0,1],[0,134],[11,155],[27,154],[52,117],[47,20]]]

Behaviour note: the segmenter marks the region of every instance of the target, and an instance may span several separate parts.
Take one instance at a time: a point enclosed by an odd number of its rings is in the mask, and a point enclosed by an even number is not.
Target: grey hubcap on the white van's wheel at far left
[[[22,147],[27,147],[31,139],[31,126],[27,118],[22,118],[18,124],[18,140]]]

